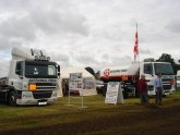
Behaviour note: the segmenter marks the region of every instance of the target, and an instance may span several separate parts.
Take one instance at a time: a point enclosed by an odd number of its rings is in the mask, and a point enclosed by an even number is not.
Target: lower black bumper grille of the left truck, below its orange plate
[[[51,95],[52,95],[52,90],[33,91],[33,96],[35,99],[50,98]]]

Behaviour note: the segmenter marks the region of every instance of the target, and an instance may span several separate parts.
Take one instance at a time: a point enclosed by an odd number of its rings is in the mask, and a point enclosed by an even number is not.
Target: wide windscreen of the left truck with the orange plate
[[[29,78],[57,78],[53,62],[25,62],[25,76]]]

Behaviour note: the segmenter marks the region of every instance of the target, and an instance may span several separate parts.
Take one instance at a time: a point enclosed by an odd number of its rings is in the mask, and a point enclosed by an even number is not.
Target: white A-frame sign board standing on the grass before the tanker
[[[119,82],[109,82],[105,103],[123,103],[122,89]]]

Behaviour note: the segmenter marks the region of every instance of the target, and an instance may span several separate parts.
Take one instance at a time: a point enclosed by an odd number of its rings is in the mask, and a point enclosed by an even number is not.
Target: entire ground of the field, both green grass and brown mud
[[[139,98],[125,99],[123,105],[105,105],[101,95],[81,98],[60,98],[43,107],[9,107],[0,105],[0,135],[57,134],[180,134],[180,91],[163,99],[156,107],[154,98],[148,106]]]

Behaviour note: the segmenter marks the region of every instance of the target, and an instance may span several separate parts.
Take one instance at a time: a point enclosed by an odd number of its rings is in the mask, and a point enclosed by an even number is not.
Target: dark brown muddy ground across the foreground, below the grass
[[[141,105],[134,105],[141,106]],[[46,127],[0,132],[0,135],[179,135],[180,105],[156,107],[149,105],[145,111],[119,111],[112,115],[75,123],[60,123]],[[98,110],[100,111],[100,110]],[[109,111],[109,113],[111,113]],[[48,116],[48,115],[47,115]]]

